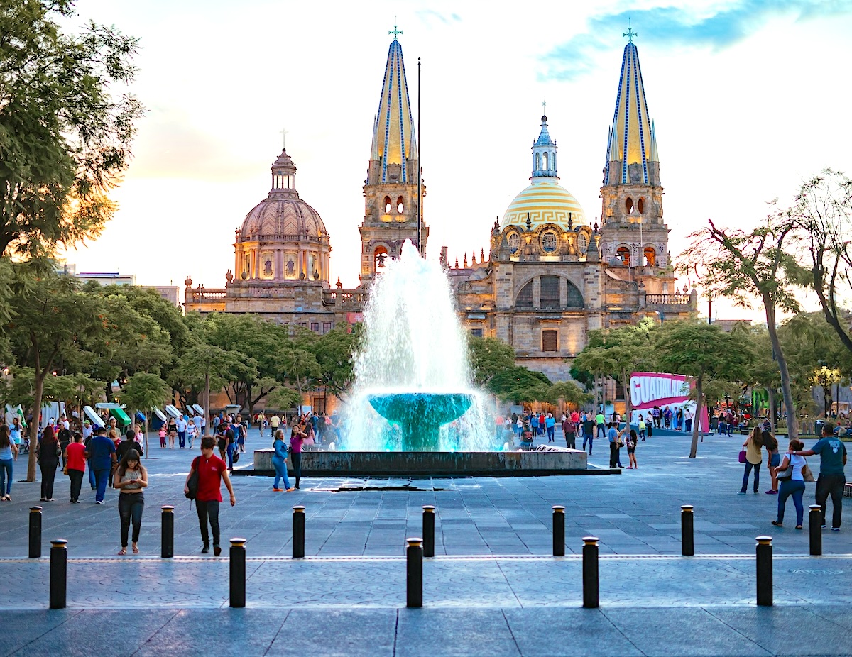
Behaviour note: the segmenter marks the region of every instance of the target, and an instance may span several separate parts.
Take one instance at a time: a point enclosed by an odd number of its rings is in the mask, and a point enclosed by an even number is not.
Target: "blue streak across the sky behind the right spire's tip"
[[[544,54],[545,80],[573,80],[595,68],[596,53],[611,49],[628,20],[653,44],[724,49],[762,29],[775,16],[795,20],[852,14],[852,0],[740,0],[697,13],[694,9],[653,7],[602,14],[587,21],[587,31]]]

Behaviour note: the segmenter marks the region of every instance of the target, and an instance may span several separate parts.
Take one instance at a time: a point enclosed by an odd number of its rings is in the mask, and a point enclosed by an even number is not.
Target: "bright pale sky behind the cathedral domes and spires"
[[[708,219],[751,226],[821,169],[852,174],[852,0],[78,0],[77,9],[72,28],[95,20],[140,39],[133,92],[147,107],[113,194],[118,213],[66,254],[78,271],[224,287],[234,230],[267,196],[285,129],[299,193],[331,235],[331,283],[355,287],[361,187],[394,25],[415,108],[423,63],[429,258],[444,245],[451,262],[487,253],[494,220],[529,184],[543,101],[561,185],[587,217],[600,216],[628,20],[672,256]],[[755,317],[714,304],[719,315]]]

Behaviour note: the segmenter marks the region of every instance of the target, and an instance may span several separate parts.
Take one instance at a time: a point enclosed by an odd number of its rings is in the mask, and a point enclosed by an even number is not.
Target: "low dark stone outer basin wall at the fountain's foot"
[[[254,471],[273,474],[272,448],[254,453]],[[587,469],[581,449],[549,452],[348,452],[302,451],[302,477],[522,477],[615,474],[620,470]],[[288,468],[290,462],[288,461]]]

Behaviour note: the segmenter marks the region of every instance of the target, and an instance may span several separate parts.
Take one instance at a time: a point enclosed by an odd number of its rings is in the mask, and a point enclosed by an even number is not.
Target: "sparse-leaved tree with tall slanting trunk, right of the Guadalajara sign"
[[[769,341],[778,363],[781,392],[787,409],[787,431],[798,436],[796,405],[790,384],[790,371],[778,337],[777,311],[798,312],[799,302],[790,285],[781,276],[787,260],[786,248],[795,241],[795,222],[784,213],[767,215],[751,231],[718,228],[712,220],[709,227],[689,237],[692,247],[682,254],[684,270],[697,271],[705,286],[715,296],[725,296],[738,306],[751,308],[760,300],[766,313]],[[705,343],[709,345],[712,343]],[[719,351],[714,346],[714,351]]]

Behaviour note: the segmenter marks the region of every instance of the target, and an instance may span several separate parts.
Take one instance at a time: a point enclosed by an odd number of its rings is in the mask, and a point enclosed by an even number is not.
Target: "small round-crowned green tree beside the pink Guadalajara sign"
[[[712,349],[708,346],[712,345]],[[671,322],[655,334],[654,348],[661,368],[686,374],[695,381],[695,421],[689,458],[698,453],[699,418],[705,380],[734,380],[751,361],[751,353],[715,324]]]

